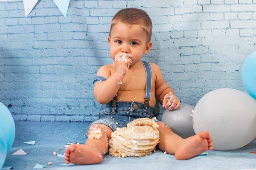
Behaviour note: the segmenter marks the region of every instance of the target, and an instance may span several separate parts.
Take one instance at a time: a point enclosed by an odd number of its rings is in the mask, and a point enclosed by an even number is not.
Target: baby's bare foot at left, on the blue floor
[[[66,164],[99,164],[103,157],[96,147],[88,144],[71,144],[65,153]]]

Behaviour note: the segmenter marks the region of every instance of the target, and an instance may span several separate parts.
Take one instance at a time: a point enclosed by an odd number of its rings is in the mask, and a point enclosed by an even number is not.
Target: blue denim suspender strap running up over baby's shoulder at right
[[[145,71],[146,71],[146,89],[145,89],[145,104],[144,104],[144,112],[147,110],[148,106],[149,106],[149,100],[151,97],[151,85],[152,85],[152,70],[151,70],[151,66],[148,62],[146,61],[142,61],[143,65],[145,67]]]

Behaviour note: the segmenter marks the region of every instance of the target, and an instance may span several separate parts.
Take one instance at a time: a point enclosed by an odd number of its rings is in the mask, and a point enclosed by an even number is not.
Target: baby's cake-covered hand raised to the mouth
[[[132,63],[132,55],[126,53],[118,53],[115,57],[116,72],[126,75],[130,64]]]

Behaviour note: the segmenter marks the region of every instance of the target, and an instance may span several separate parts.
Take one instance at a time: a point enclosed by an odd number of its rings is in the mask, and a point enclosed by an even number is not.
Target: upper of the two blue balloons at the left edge
[[[15,138],[15,124],[12,114],[3,103],[0,102],[0,129],[2,130],[7,144],[7,152],[12,147]]]

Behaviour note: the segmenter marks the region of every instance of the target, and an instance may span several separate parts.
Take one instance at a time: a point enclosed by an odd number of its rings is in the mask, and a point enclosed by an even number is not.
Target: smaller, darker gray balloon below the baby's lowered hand
[[[192,110],[194,110],[192,105],[181,103],[177,110],[169,111],[166,109],[163,112],[162,122],[171,127],[174,133],[186,139],[195,135],[192,125]]]

